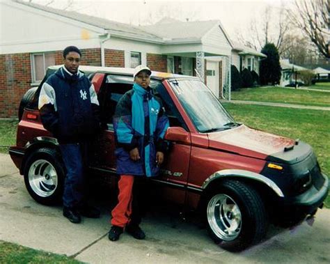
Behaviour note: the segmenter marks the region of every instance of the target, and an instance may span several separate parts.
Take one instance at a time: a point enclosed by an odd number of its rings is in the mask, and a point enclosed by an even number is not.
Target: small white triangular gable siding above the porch
[[[228,42],[225,34],[223,33],[220,24],[215,25],[209,32],[202,38],[203,46],[206,49],[217,49],[217,54],[228,55],[231,54],[231,45]]]

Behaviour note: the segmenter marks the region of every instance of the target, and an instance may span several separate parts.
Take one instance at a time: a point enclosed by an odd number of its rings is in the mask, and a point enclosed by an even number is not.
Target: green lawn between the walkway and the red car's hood
[[[223,106],[238,122],[310,144],[322,171],[330,176],[330,111],[231,103]],[[330,196],[326,205],[330,208]]]

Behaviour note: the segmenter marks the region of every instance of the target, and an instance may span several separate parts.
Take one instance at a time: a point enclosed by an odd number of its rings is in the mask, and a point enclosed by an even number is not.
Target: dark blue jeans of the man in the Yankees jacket
[[[83,152],[85,146],[80,143],[60,144],[66,169],[63,205],[74,208],[81,204],[84,196]]]

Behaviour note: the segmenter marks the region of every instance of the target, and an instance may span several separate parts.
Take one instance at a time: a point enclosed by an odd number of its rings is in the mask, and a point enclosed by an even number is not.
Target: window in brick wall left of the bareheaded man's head
[[[45,76],[47,67],[55,65],[55,54],[54,53],[38,53],[31,54],[32,61],[32,82],[38,82]]]

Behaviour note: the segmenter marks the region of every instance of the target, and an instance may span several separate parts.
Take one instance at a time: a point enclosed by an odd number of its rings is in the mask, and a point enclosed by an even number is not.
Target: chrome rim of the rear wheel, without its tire
[[[29,185],[38,196],[51,196],[58,185],[54,166],[47,160],[33,162],[29,168]]]

